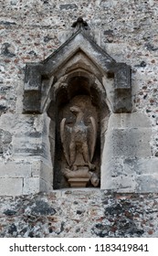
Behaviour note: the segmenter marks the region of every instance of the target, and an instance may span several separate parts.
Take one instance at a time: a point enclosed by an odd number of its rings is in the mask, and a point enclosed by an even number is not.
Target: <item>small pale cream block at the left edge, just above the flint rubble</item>
[[[0,178],[0,196],[22,195],[23,178]]]

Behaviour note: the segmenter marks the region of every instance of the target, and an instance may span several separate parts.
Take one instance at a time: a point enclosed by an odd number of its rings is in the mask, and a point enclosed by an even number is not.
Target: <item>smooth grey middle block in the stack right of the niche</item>
[[[105,139],[105,155],[123,158],[145,158],[151,156],[151,129],[115,129]],[[103,156],[104,157],[104,156]]]

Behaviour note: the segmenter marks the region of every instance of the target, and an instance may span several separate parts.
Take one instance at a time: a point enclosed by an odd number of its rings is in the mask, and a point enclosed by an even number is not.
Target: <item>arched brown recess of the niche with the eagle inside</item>
[[[100,123],[110,113],[105,91],[79,69],[54,86],[54,95],[47,110],[56,123],[54,188],[100,187]]]

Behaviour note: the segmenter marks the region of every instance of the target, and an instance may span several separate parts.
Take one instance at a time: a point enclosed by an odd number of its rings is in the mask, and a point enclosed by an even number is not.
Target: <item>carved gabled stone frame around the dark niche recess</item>
[[[90,88],[97,93],[101,104],[100,165],[109,114],[132,111],[131,67],[112,59],[81,28],[44,61],[26,64],[23,112],[35,115],[47,113],[45,119],[46,123],[50,122],[50,130],[45,136],[50,137],[51,146],[42,157],[47,158],[49,154],[52,172],[56,150],[56,118],[50,112],[57,112],[58,93],[64,93],[64,90],[68,93],[68,81],[75,77],[89,80]],[[46,182],[52,184],[50,180]]]

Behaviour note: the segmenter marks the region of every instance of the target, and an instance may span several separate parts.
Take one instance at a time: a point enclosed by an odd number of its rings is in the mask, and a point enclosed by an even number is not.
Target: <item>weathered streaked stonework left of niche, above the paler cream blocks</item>
[[[17,127],[13,139],[14,155],[41,155],[48,159],[47,151],[49,144],[47,144],[47,114],[45,115],[18,115]],[[13,124],[12,124],[13,125]]]

